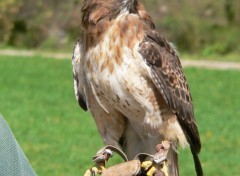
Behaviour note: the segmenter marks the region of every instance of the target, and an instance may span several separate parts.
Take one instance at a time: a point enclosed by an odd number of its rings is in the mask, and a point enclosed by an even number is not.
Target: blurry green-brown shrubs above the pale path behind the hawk
[[[203,56],[240,52],[240,1],[143,0],[158,31],[179,50]],[[80,0],[2,0],[1,46],[72,48],[81,27]]]

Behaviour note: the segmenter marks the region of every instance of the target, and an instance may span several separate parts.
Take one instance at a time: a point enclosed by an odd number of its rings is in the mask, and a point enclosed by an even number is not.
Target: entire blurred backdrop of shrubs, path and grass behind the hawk
[[[240,1],[143,2],[157,30],[177,45],[182,62],[194,61],[184,64],[184,72],[205,175],[238,176]],[[83,175],[103,146],[93,118],[73,93],[70,58],[81,32],[81,4],[0,0],[0,113],[39,175]],[[179,157],[181,175],[194,175],[190,151],[180,149]]]

